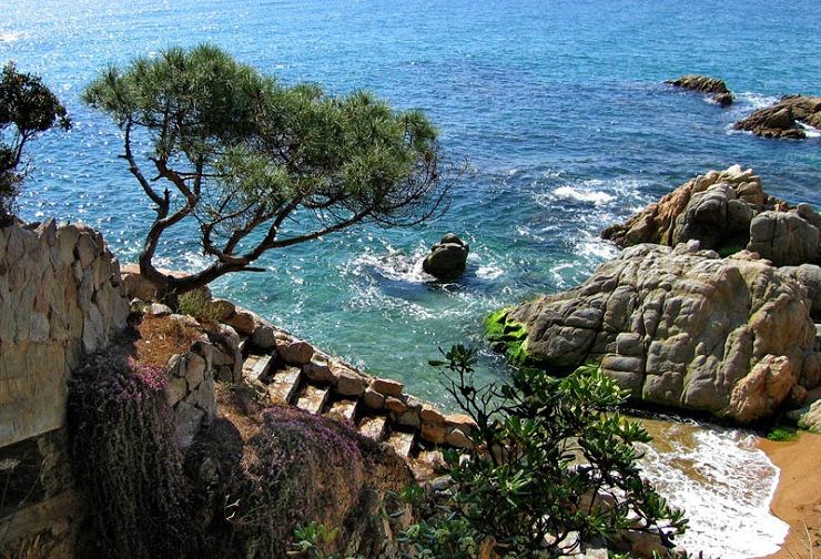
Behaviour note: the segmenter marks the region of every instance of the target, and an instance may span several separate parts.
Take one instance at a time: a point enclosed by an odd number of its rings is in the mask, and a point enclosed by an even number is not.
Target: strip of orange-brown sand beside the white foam
[[[809,558],[810,541],[821,546],[821,435],[804,431],[789,443],[762,439],[759,448],[781,469],[770,510],[790,525],[781,550],[766,558]],[[821,547],[812,553],[821,557]]]

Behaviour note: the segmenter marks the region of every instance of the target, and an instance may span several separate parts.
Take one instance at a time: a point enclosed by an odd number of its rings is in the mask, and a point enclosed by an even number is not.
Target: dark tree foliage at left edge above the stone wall
[[[40,78],[17,71],[9,62],[0,78],[0,225],[13,214],[13,203],[28,172],[23,148],[54,125],[71,126],[65,109]]]

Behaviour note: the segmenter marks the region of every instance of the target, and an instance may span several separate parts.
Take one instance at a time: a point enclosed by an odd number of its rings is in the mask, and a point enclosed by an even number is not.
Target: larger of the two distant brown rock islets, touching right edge
[[[747,130],[763,138],[801,140],[807,133],[798,124],[802,122],[821,128],[821,96],[788,95],[763,109],[759,109],[734,124],[737,130]]]

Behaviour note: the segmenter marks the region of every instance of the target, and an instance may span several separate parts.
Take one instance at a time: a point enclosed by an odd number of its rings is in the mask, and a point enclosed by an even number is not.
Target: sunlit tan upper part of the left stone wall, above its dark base
[[[69,372],[128,315],[100,233],[53,220],[0,227],[0,447],[64,425]]]

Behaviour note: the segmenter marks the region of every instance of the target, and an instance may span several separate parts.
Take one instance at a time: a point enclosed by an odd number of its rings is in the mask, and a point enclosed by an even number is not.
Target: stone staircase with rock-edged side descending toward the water
[[[443,414],[405,394],[402,383],[371,377],[303,344],[284,331],[276,332],[267,348],[243,339],[243,380],[271,404],[347,421],[362,435],[391,445],[419,477],[442,463],[443,448],[470,446],[469,417]]]

